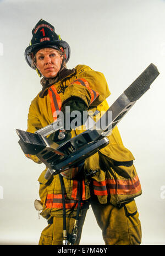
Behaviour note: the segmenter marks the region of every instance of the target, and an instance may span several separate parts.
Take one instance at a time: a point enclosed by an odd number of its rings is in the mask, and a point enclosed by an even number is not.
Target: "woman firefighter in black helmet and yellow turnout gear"
[[[32,100],[27,119],[27,132],[53,123],[57,111],[65,107],[92,111],[92,118],[101,117],[108,110],[106,98],[110,95],[107,81],[100,72],[78,64],[67,69],[70,47],[54,31],[54,27],[40,20],[32,30],[25,59],[41,79],[42,90]],[[70,139],[86,129],[82,118],[79,129],[64,127],[64,139]],[[134,156],[124,147],[118,128],[107,137],[109,144],[81,166],[75,166],[59,175],[45,178],[42,171],[40,200],[37,210],[47,219],[48,225],[41,233],[39,244],[79,244],[85,215],[91,205],[105,244],[140,244],[141,225],[134,198],[141,194],[141,186],[133,161]],[[59,132],[50,139],[62,143]],[[36,163],[40,159],[26,155]]]

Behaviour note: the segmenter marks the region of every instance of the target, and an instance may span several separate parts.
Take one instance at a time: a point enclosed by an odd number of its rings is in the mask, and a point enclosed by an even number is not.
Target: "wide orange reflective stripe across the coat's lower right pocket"
[[[141,190],[138,176],[133,179],[106,179],[103,182],[93,182],[95,195],[136,194]]]

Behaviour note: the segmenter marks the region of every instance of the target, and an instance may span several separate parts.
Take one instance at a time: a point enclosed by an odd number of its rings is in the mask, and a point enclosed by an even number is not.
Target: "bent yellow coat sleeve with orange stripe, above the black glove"
[[[101,72],[85,66],[76,69],[76,78],[65,90],[62,104],[70,97],[80,97],[87,107],[95,107],[101,104],[111,93],[105,76]]]

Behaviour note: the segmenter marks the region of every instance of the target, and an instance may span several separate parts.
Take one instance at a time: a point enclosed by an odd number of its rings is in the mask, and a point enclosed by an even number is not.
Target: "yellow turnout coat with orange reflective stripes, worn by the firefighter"
[[[59,80],[42,91],[31,102],[27,120],[27,132],[47,126],[56,119],[56,111],[69,97],[80,97],[89,110],[97,110],[97,118],[101,111],[109,106],[106,98],[110,95],[107,81],[101,72],[96,72],[85,65],[78,65],[74,69],[63,69]],[[99,111],[99,112],[98,112]],[[83,132],[82,129],[72,130],[72,137]],[[126,203],[141,194],[141,186],[135,167],[134,156],[125,148],[118,128],[115,127],[108,136],[109,144],[95,155],[85,160],[83,167],[83,201],[96,195],[101,204],[111,203],[114,206]],[[28,156],[38,164],[36,156]],[[85,173],[97,170],[90,179]],[[74,171],[74,168],[73,168]],[[43,217],[62,216],[62,192],[58,175],[48,181],[45,179],[46,170],[42,171],[40,182],[40,198],[43,205]],[[74,178],[63,178],[67,215],[74,216],[78,202],[78,181]],[[83,205],[83,204],[82,204]]]

